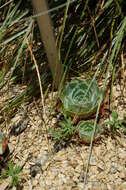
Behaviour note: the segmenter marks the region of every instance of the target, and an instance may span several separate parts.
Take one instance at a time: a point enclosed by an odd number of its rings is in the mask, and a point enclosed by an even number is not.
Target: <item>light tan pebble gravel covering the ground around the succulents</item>
[[[122,116],[120,88],[116,89],[115,108]],[[71,143],[55,154],[53,142],[47,141],[47,133],[41,118],[41,101],[28,106],[27,128],[20,135],[11,135],[9,148],[13,162],[23,166],[20,184],[23,190],[82,190],[89,146]],[[126,103],[126,100],[125,100]],[[47,127],[57,122],[55,111],[49,116],[51,97],[45,101]],[[18,117],[13,118],[12,122]],[[77,140],[75,140],[77,141]],[[126,190],[126,136],[112,138],[103,135],[93,146],[86,190]]]

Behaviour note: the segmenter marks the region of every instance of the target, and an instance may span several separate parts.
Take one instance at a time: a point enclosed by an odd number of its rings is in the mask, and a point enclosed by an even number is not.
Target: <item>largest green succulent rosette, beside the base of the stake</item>
[[[61,92],[61,111],[87,118],[96,112],[101,95],[96,81],[73,79]]]

